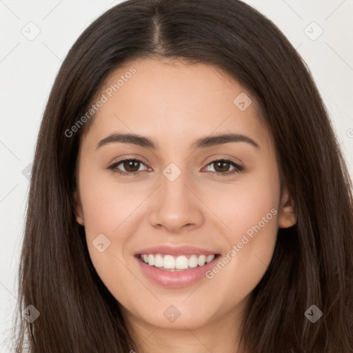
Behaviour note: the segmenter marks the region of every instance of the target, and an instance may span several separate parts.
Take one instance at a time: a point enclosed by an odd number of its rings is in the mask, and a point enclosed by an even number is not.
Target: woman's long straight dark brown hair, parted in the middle
[[[73,212],[80,137],[65,130],[105,77],[150,56],[215,65],[261,108],[294,197],[296,224],[280,229],[253,292],[243,342],[249,352],[353,352],[352,182],[310,70],[280,30],[238,0],[129,0],[77,39],[43,114],[19,268],[16,352],[129,352],[131,332],[94,270]],[[137,73],[138,74],[138,73]],[[33,305],[33,323],[21,312]],[[315,323],[305,311],[316,305]],[[139,351],[139,350],[137,350]]]

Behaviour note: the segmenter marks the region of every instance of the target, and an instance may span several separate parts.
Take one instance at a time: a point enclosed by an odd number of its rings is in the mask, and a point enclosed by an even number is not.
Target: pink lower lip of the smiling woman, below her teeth
[[[162,285],[163,287],[182,288],[192,285],[205,277],[205,273],[214,266],[215,261],[219,259],[219,255],[203,266],[197,266],[196,268],[189,268],[188,270],[174,272],[159,270],[156,266],[150,266],[143,262],[139,259],[139,257],[135,256],[135,258],[141,266],[143,273],[154,283]]]

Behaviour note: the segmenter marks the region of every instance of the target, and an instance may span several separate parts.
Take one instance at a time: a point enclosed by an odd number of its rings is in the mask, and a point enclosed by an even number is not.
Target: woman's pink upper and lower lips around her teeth
[[[160,270],[155,266],[150,266],[140,259],[140,254],[170,254],[172,256],[178,255],[213,255],[216,254],[214,259],[203,266],[197,266],[196,268],[188,268],[183,271],[168,271]],[[201,279],[205,278],[206,272],[208,272],[216,262],[219,261],[221,255],[219,252],[211,252],[210,250],[205,250],[201,248],[195,248],[192,246],[179,246],[172,247],[170,245],[158,245],[152,248],[145,248],[139,250],[134,254],[139,267],[141,268],[143,274],[153,283],[161,285],[162,287],[168,288],[183,288],[188,285],[192,285]]]

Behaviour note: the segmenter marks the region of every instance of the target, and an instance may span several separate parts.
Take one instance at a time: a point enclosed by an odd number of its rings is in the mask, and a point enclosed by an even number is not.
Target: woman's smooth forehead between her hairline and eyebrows
[[[258,141],[268,139],[250,92],[205,63],[130,61],[103,81],[93,103],[99,100],[104,103],[89,131],[95,141],[114,130],[177,143],[212,132],[239,132],[252,134]]]

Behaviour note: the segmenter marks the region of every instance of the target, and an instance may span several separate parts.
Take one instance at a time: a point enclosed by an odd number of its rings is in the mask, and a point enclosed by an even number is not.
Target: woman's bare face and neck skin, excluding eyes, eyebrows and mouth
[[[103,82],[97,97],[130,67],[137,72],[99,108],[79,150],[75,213],[92,263],[132,327],[132,350],[245,352],[240,325],[252,290],[270,264],[278,228],[296,222],[270,132],[259,121],[254,99],[245,111],[234,105],[241,92],[251,94],[203,63],[132,61]],[[97,148],[118,131],[152,137],[160,150],[126,143]],[[259,148],[245,142],[190,148],[200,137],[230,132],[250,137]],[[142,163],[134,169],[121,163],[116,170],[145,172],[128,177],[108,169],[128,157]],[[243,172],[212,173],[234,170],[232,164],[222,170],[211,163],[220,158],[243,166]],[[163,174],[170,163],[181,170],[172,182]],[[213,279],[165,288],[145,277],[134,259],[137,250],[162,243],[227,254],[272,209],[276,215]],[[92,245],[101,233],[110,240],[104,252]],[[171,304],[181,313],[173,323],[163,315]]]

